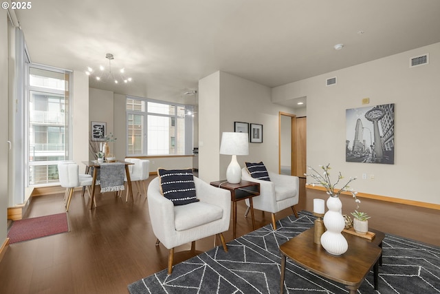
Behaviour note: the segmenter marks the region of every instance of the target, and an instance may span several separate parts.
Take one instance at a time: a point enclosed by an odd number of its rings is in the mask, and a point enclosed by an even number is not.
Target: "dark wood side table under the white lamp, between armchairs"
[[[260,183],[248,182],[242,180],[238,184],[230,184],[227,180],[218,180],[217,182],[210,182],[210,185],[221,189],[226,189],[231,192],[232,201],[232,227],[234,239],[236,238],[236,202],[240,200],[249,199],[250,213],[252,216],[252,229],[255,229],[254,219],[254,204],[252,203],[252,197],[260,195]]]

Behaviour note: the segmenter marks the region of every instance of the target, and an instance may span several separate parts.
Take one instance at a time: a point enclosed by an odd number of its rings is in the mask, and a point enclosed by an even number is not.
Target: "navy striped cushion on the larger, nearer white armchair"
[[[160,192],[174,205],[197,202],[192,169],[157,169]]]

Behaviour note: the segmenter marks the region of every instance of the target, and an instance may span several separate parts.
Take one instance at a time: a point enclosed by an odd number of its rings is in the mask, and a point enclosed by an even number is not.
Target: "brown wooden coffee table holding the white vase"
[[[314,227],[282,244],[281,293],[284,290],[286,258],[317,275],[346,285],[351,294],[356,293],[373,267],[374,285],[377,290],[379,264],[382,264],[381,247],[385,234],[373,229],[370,231],[376,234],[373,240],[342,233],[349,243],[349,249],[339,256],[327,253],[320,244],[314,243]]]

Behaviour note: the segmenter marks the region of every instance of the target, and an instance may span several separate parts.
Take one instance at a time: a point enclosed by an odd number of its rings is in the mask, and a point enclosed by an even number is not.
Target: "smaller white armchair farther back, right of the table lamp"
[[[297,176],[275,174],[272,171],[267,171],[267,173],[270,181],[257,180],[252,178],[248,173],[248,169],[244,167],[241,169],[241,178],[242,180],[260,183],[260,196],[252,198],[253,207],[272,213],[272,227],[276,230],[275,213],[278,211],[292,207],[296,218],[298,218],[295,205],[298,204],[299,200],[299,178]],[[248,199],[245,202],[248,205],[248,210],[245,213],[245,216],[247,216],[250,203]]]

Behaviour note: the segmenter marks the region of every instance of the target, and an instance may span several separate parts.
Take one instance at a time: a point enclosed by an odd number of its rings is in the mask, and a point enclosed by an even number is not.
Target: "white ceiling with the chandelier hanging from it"
[[[90,87],[188,103],[184,89],[217,70],[275,87],[440,41],[439,0],[41,0],[15,12],[32,62],[83,71],[112,53],[133,83]]]

